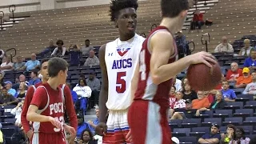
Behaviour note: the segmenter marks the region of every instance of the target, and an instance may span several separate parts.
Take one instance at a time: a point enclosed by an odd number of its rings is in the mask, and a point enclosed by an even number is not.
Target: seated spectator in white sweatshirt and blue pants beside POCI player
[[[78,86],[74,86],[73,90],[78,94],[78,102],[75,104],[76,111],[77,113],[84,114],[92,90],[87,86],[86,80],[83,78],[78,79]]]

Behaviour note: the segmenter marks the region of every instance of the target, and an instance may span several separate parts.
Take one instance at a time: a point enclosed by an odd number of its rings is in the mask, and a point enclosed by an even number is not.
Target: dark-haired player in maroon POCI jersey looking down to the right
[[[66,144],[66,130],[71,135],[75,130],[64,124],[64,94],[59,87],[66,82],[68,63],[62,58],[48,62],[49,80],[34,92],[26,118],[33,122],[32,144]]]

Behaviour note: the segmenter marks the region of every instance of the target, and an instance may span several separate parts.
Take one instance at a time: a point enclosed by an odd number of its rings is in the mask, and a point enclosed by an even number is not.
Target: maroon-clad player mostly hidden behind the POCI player
[[[27,110],[30,106],[30,102],[32,101],[33,95],[34,95],[34,90],[42,85],[42,83],[45,83],[48,81],[49,79],[49,75],[48,75],[48,61],[50,58],[43,58],[41,61],[41,74],[42,74],[42,82],[36,84],[35,86],[30,86],[29,89],[26,92],[26,98],[25,98],[25,102],[24,102],[24,106],[22,108],[22,116],[21,116],[21,121],[22,121],[22,126],[23,126],[23,130],[26,132],[27,137],[31,140],[32,135],[33,135],[33,130],[30,129],[30,122],[26,120],[26,114],[27,114]],[[62,87],[62,85],[60,85],[60,87]],[[77,115],[75,114],[74,111],[74,106],[73,103],[70,102],[72,101],[72,96],[70,94],[70,88],[68,86],[64,87],[64,97],[65,97],[65,106],[66,106],[66,113],[68,115],[68,117],[70,118],[70,126],[74,127],[75,130],[77,130],[78,127],[78,119],[77,119]],[[69,143],[74,143],[74,138],[69,138]]]

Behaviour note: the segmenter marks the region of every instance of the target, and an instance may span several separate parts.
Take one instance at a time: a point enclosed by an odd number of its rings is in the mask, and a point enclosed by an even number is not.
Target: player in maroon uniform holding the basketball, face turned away
[[[189,5],[188,0],[161,0],[162,22],[143,42],[132,80],[132,85],[138,88],[131,91],[134,102],[128,113],[134,144],[171,144],[167,121],[171,78],[190,64],[205,63],[211,67],[210,62],[217,63],[214,56],[206,52],[175,62],[178,50],[173,34],[182,30]]]

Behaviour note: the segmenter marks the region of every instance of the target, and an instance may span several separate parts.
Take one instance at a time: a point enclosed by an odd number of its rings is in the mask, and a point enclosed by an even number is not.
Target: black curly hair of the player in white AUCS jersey
[[[119,10],[133,7],[138,9],[138,0],[111,0],[110,2],[110,20],[114,22],[118,18]]]

